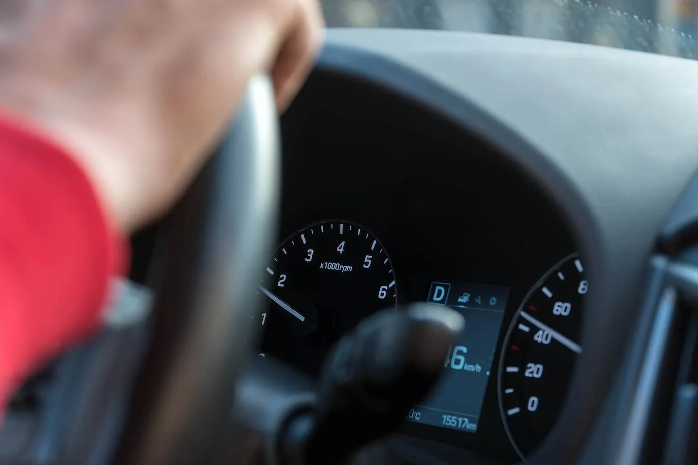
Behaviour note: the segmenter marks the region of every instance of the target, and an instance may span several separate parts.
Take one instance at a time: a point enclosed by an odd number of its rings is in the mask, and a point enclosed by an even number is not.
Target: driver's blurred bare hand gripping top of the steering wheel
[[[316,0],[24,0],[0,18],[0,108],[67,147],[124,232],[184,191],[252,75],[283,110],[322,36]]]

